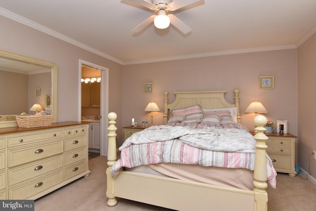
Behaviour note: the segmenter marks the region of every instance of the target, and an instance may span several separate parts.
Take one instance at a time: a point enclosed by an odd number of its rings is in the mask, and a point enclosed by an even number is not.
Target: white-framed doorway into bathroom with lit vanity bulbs
[[[79,121],[89,122],[89,153],[107,156],[109,69],[79,60]]]

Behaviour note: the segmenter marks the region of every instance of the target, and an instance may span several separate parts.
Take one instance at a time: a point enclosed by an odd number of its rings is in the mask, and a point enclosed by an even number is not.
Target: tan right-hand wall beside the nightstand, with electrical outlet
[[[298,48],[298,162],[316,178],[316,160],[312,150],[316,150],[314,118],[316,118],[316,35],[313,35]],[[309,161],[311,158],[311,161]]]

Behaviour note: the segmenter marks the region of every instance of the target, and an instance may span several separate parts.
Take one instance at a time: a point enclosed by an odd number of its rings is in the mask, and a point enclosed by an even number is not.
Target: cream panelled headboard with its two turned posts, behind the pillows
[[[200,105],[202,109],[237,107],[237,122],[240,123],[239,89],[234,89],[235,104],[230,104],[226,101],[225,93],[226,91],[175,92],[176,99],[173,103],[168,104],[169,92],[165,91],[163,124],[167,124],[170,110],[194,105]]]

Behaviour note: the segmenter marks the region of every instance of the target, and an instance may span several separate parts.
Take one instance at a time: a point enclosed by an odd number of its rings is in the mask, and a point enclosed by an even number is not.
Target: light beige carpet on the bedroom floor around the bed
[[[35,201],[35,211],[170,211],[152,205],[118,199],[107,206],[107,158],[89,160],[90,176],[82,177]],[[276,189],[268,187],[268,211],[315,211],[316,185],[299,176],[276,176]],[[198,211],[198,209],[197,209]]]

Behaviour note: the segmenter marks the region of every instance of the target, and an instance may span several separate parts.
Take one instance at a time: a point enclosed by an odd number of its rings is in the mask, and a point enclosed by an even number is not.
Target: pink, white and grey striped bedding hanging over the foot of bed
[[[254,170],[254,152],[211,151],[194,147],[180,141],[178,138],[167,141],[126,144],[120,149],[120,159],[111,169],[113,176],[117,176],[123,167],[133,168],[140,165],[158,163],[193,164]],[[268,183],[276,188],[276,171],[268,155],[267,175]]]

